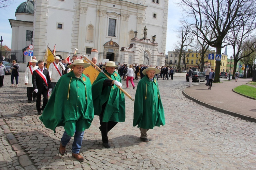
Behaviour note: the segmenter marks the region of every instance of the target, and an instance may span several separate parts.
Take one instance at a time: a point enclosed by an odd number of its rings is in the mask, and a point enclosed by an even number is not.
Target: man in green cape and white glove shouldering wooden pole
[[[125,121],[125,97],[124,93],[117,87],[123,87],[119,74],[115,71],[117,66],[114,62],[108,62],[102,68],[109,75],[108,79],[104,73],[99,73],[92,85],[94,115],[100,116],[100,131],[103,146],[110,148],[108,132],[114,128],[117,122]]]

